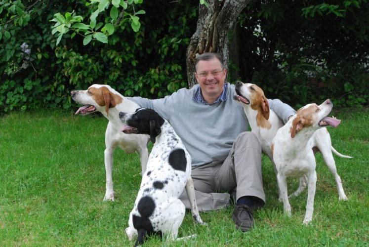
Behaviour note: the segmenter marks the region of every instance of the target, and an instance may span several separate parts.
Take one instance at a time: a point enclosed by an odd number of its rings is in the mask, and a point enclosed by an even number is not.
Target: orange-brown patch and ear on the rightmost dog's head
[[[303,127],[308,127],[314,123],[314,113],[319,109],[319,107],[314,104],[308,106],[307,108],[299,109],[296,112],[296,118],[292,121],[292,126],[289,130],[291,133],[291,138],[294,138],[296,133],[300,131]]]

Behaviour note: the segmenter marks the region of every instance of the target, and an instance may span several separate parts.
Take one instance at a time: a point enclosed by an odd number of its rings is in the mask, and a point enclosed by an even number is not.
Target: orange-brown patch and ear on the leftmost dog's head
[[[114,108],[122,103],[123,99],[118,94],[112,93],[106,86],[99,88],[90,87],[88,93],[96,101],[99,106],[105,106],[106,114],[109,116],[109,108]]]

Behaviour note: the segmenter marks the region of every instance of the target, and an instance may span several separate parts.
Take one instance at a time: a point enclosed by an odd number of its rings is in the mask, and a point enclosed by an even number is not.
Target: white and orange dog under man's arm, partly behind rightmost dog
[[[277,175],[277,170],[273,161],[271,144],[277,130],[284,125],[282,120],[279,119],[275,112],[269,108],[268,100],[265,97],[263,90],[255,84],[237,82],[236,95],[234,98],[243,105],[246,117],[251,126],[251,131],[258,138],[263,152],[272,161]],[[337,174],[332,152],[342,158],[352,157],[342,155],[332,147],[329,132],[325,127],[317,129],[313,133],[311,139],[314,152],[319,151],[322,153],[325,163],[335,178],[339,200],[346,201],[347,197],[342,187],[341,178]],[[298,196],[305,189],[307,185],[306,182],[307,177],[302,176],[300,178],[298,189],[292,193],[290,197]],[[281,195],[280,200],[282,200]]]

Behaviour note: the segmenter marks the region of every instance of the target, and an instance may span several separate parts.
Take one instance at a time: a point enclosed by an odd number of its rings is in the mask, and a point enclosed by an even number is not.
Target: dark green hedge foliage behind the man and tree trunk
[[[93,83],[149,98],[187,86],[186,48],[199,0],[141,0],[137,32],[123,18],[108,43],[83,45],[83,35],[66,33],[56,46],[54,14],[86,20],[86,3],[0,0],[0,113],[70,109],[70,91]],[[109,11],[97,18],[105,22]],[[230,34],[229,81],[256,83],[268,98],[294,107],[325,98],[368,106],[368,29],[367,0],[251,1]]]

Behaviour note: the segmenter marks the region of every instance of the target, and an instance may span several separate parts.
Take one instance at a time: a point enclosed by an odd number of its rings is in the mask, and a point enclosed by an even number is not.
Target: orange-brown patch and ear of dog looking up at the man
[[[255,111],[257,111],[256,114],[256,125],[260,128],[266,128],[270,129],[272,127],[272,124],[268,121],[269,119],[269,103],[267,98],[264,95],[263,89],[258,87],[255,84],[251,84],[250,90],[250,103],[251,108]]]

